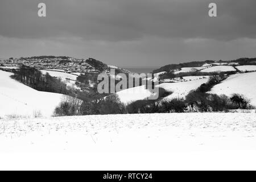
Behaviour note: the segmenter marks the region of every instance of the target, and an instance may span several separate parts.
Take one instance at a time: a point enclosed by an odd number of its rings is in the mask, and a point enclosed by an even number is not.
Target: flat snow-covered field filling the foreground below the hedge
[[[255,169],[255,113],[0,119],[0,169]]]

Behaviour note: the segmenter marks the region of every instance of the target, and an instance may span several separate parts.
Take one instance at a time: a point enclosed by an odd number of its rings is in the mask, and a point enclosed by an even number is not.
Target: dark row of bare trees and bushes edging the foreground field
[[[250,101],[240,94],[232,97],[217,94],[191,92],[184,99],[178,100],[138,100],[128,105],[122,104],[116,94],[97,100],[82,101],[65,96],[55,109],[56,116],[98,115],[98,114],[137,114],[137,113],[184,113],[226,111],[229,109],[250,109]]]

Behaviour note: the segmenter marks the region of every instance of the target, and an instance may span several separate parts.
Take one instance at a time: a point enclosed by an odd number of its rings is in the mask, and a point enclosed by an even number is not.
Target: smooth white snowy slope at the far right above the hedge
[[[228,77],[221,84],[215,85],[209,93],[226,94],[231,96],[233,93],[243,94],[251,100],[251,104],[256,106],[256,72],[236,74]]]

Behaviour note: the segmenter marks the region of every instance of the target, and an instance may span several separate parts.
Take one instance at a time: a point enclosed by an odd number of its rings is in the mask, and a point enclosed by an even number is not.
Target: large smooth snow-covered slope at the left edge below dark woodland
[[[39,112],[43,117],[53,114],[62,94],[39,92],[13,80],[11,75],[12,73],[0,71],[0,117],[33,117],[34,113]]]

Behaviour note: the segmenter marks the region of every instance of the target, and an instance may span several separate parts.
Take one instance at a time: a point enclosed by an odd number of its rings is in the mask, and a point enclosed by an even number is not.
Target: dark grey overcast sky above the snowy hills
[[[38,3],[47,17],[38,17]],[[208,16],[217,3],[217,18]],[[255,0],[1,0],[0,58],[94,57],[121,67],[256,57]]]

